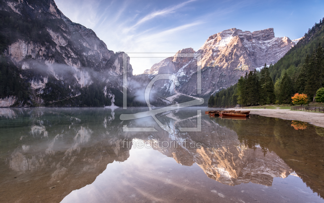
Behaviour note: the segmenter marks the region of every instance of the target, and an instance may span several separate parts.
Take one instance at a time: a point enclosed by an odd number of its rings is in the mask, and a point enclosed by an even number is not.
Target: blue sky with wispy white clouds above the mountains
[[[65,16],[94,30],[108,49],[175,53],[199,49],[215,33],[274,28],[276,37],[300,38],[324,17],[324,1],[104,1],[55,0]],[[132,58],[133,74],[162,58]],[[173,55],[173,54],[168,54]]]

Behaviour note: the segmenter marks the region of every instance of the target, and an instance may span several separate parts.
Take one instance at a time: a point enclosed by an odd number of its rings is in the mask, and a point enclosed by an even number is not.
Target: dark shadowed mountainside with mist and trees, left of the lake
[[[18,92],[14,95],[15,90],[10,90],[12,95],[4,93],[2,100],[14,96],[11,103],[18,106],[56,106],[57,101],[80,95],[87,97],[83,88],[93,84],[102,97],[96,96],[97,104],[93,101],[86,104],[78,98],[63,105],[102,106],[110,103],[112,94],[107,96],[107,91],[121,89],[121,85],[116,86],[111,81],[121,80],[118,76],[122,75],[123,53],[108,50],[93,30],[72,22],[53,0],[7,0],[1,3],[0,9],[3,60],[6,58],[7,62],[13,62],[20,69],[17,69],[17,74],[30,85],[24,90],[29,91],[28,99],[22,99]],[[127,69],[132,77],[129,58]],[[118,84],[122,83],[119,81]],[[8,103],[0,102],[1,106]]]

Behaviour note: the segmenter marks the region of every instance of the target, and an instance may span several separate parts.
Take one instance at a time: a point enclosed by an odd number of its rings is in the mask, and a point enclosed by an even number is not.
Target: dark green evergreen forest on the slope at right
[[[274,65],[250,71],[237,84],[211,95],[208,106],[289,104],[295,93],[307,94],[312,102],[324,83],[323,24],[324,18]]]

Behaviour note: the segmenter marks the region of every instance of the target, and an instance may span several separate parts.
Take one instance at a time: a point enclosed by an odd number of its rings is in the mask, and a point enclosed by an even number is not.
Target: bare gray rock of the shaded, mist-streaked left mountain
[[[65,98],[82,94],[81,89],[94,82],[106,82],[100,90],[105,96],[110,88],[121,90],[122,52],[114,53],[100,40],[96,33],[83,25],[72,22],[57,8],[53,0],[11,1],[1,3],[1,12],[41,26],[34,28],[42,37],[19,36],[8,44],[4,56],[16,66],[21,67],[21,77],[26,79],[33,93],[31,100],[44,104],[45,90],[50,78],[65,84],[70,93]],[[6,29],[6,28],[5,28]],[[6,30],[2,30],[6,32]],[[133,76],[132,66],[127,60],[128,76]],[[113,81],[113,82],[112,82]],[[56,83],[55,83],[56,84]],[[68,85],[66,85],[68,84]],[[116,85],[118,84],[118,85]],[[108,91],[108,93],[107,93]],[[60,92],[61,96],[63,95]],[[8,100],[8,98],[4,98]],[[3,99],[0,99],[1,101]],[[1,102],[0,106],[12,102]],[[55,102],[55,100],[53,101]],[[32,103],[32,102],[30,102]],[[3,104],[3,105],[2,105]]]

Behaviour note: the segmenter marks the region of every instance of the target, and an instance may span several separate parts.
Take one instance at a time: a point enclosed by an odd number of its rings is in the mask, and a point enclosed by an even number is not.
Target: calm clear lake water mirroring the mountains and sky
[[[147,110],[0,109],[0,202],[324,202],[323,128],[206,108],[157,114],[171,133],[152,117],[120,120]],[[201,131],[180,132],[197,110]]]

